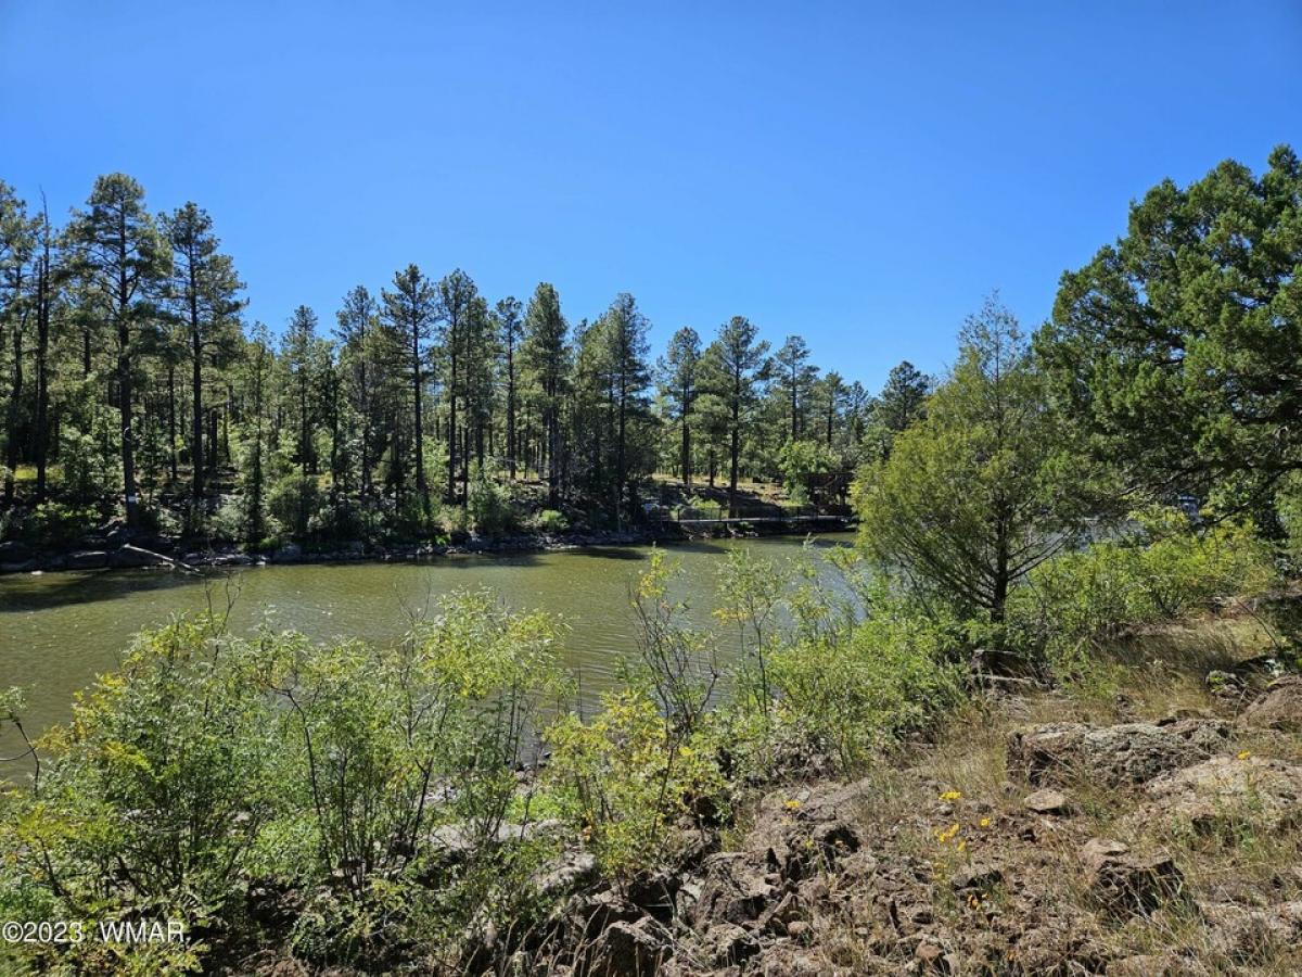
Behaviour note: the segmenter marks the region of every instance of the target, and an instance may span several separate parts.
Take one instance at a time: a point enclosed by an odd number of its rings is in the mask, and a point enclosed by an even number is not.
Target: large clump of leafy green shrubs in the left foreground
[[[208,619],[142,634],[47,733],[33,788],[0,792],[0,911],[225,931],[247,925],[240,896],[262,879],[333,894],[289,934],[322,961],[428,939],[410,913],[430,900],[452,939],[527,890],[538,858],[499,828],[559,692],[549,619],[487,594],[447,598],[385,651],[243,641]],[[0,726],[20,710],[0,697]],[[471,843],[450,874],[431,839],[441,822]],[[91,956],[78,972],[100,972]]]

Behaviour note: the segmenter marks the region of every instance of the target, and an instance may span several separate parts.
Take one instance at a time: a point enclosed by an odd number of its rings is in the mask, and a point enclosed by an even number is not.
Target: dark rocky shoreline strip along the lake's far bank
[[[508,537],[466,534],[460,538],[454,537],[447,543],[423,542],[387,547],[367,545],[362,541],[310,547],[288,543],[266,552],[245,552],[233,545],[198,548],[187,546],[185,541],[156,534],[129,534],[124,528],[116,528],[100,537],[87,537],[77,546],[59,551],[31,547],[22,542],[0,543],[0,574],[104,569],[198,572],[214,568],[297,563],[411,563],[469,554],[555,552],[710,538],[805,535],[807,533],[845,531],[850,528],[852,524],[848,520],[837,517],[801,522],[793,520],[789,524],[721,524],[713,531],[693,528],[690,533],[676,522],[656,522],[620,531],[525,533]]]

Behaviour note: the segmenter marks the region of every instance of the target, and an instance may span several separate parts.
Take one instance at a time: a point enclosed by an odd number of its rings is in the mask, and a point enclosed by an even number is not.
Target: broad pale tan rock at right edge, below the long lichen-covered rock
[[[1154,778],[1142,823],[1184,823],[1212,832],[1234,823],[1282,831],[1302,819],[1302,766],[1253,756],[1213,757]]]

